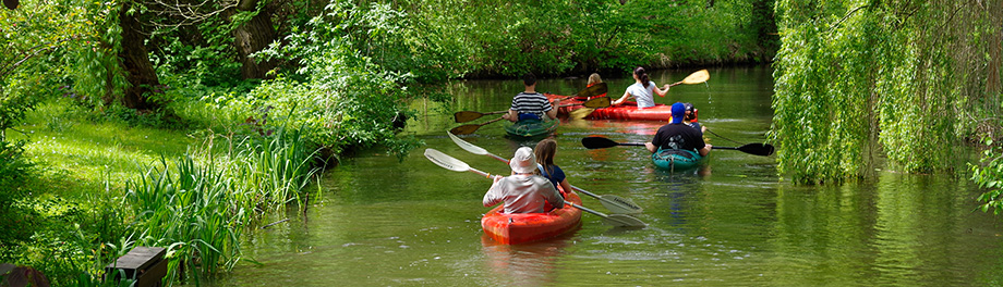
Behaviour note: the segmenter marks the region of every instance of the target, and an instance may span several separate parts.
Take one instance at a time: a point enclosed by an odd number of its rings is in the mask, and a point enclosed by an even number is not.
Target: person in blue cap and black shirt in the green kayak
[[[699,130],[682,123],[686,105],[681,102],[674,103],[672,112],[672,123],[660,127],[651,142],[644,142],[648,151],[655,153],[660,149],[690,150],[706,157],[711,152],[711,145],[703,142],[703,136]]]

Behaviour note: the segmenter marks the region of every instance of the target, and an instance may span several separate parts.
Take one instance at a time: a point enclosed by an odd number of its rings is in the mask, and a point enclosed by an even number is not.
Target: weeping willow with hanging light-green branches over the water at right
[[[880,157],[909,172],[951,169],[953,147],[999,128],[980,115],[999,110],[1001,4],[778,1],[780,172],[842,182]]]

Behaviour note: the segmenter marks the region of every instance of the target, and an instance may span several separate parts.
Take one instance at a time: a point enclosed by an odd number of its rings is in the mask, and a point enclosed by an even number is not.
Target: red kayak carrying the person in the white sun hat
[[[565,201],[581,204],[575,192]],[[570,232],[581,225],[581,210],[565,204],[547,213],[503,213],[505,204],[492,209],[481,217],[484,234],[503,245],[518,245],[542,240]]]

